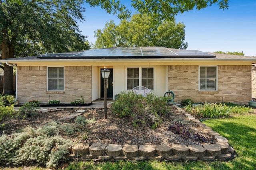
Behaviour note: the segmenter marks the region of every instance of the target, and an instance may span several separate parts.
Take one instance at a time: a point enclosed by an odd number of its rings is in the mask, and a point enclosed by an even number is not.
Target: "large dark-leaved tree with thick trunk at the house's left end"
[[[84,20],[83,0],[0,0],[2,59],[89,49],[75,19]],[[12,67],[4,63],[3,94],[13,94]]]

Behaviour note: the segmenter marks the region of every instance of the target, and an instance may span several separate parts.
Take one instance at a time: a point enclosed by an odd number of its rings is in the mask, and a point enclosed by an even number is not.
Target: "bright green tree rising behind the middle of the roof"
[[[119,25],[114,21],[107,22],[103,30],[94,31],[95,48],[161,46],[186,49],[185,26],[174,21],[156,22],[152,17],[135,14],[130,20],[121,20]]]

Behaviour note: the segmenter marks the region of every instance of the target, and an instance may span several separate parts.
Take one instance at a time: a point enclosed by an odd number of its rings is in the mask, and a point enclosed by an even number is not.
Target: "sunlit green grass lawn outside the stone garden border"
[[[76,162],[67,170],[255,170],[256,169],[256,115],[239,115],[226,119],[204,121],[223,137],[236,150],[236,158],[221,161],[117,161],[117,162]]]

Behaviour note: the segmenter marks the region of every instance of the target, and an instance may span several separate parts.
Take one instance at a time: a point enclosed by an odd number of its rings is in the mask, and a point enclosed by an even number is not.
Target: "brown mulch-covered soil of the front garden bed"
[[[4,123],[5,127],[4,129],[0,129],[0,134],[2,135],[4,132],[5,134],[10,135],[11,133],[18,131],[18,129],[28,125],[35,128],[41,127],[50,121],[57,121],[62,117],[67,117],[75,111],[76,110],[48,111],[46,113],[38,113],[33,117],[28,117],[26,119],[2,121],[0,122],[0,125]],[[132,117],[120,118],[117,115],[112,114],[110,109],[108,109],[107,119],[104,119],[104,110],[100,109],[87,109],[83,115],[86,118],[94,117],[96,119],[94,125],[101,125],[94,129],[93,136],[98,137],[105,145],[138,145],[139,147],[140,145],[171,145],[172,143],[184,145],[206,145],[216,143],[210,135],[202,131],[202,129],[196,126],[192,121],[186,119],[186,117],[174,107],[171,107],[170,112],[163,117],[162,124],[155,130],[150,127],[134,127]],[[175,131],[168,130],[168,127],[172,125],[172,121],[174,120],[182,121],[182,128],[183,130],[186,130],[186,133],[176,134]],[[74,124],[75,119],[61,121],[60,123]],[[93,138],[89,143],[99,143],[100,141]]]

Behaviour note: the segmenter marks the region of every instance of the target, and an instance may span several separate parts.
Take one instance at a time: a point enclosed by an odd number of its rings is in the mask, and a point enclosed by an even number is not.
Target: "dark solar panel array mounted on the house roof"
[[[112,47],[90,49],[80,52],[56,53],[38,56],[38,58],[213,58],[214,55],[197,50],[170,49],[165,47]]]

